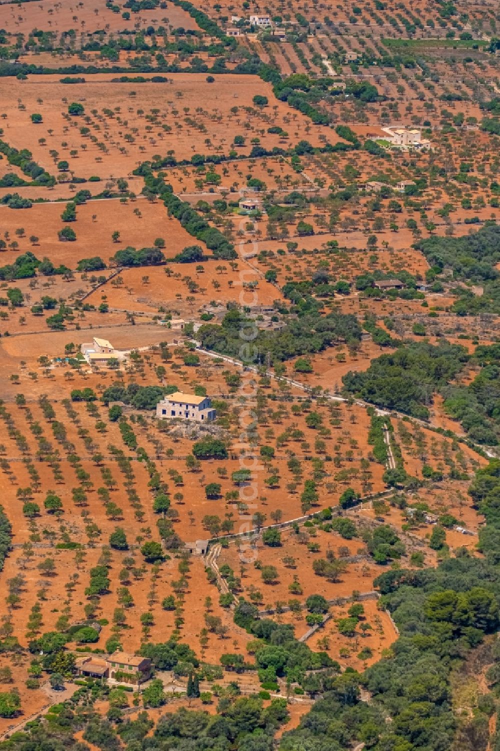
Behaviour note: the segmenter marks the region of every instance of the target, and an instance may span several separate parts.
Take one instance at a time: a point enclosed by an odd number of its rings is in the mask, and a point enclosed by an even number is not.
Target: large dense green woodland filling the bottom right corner
[[[381,605],[390,610],[399,628],[396,644],[363,674],[348,669],[337,677],[299,728],[282,737],[282,751],[330,748],[333,726],[336,748],[362,742],[376,751],[445,751],[468,747],[471,739],[477,744],[474,747],[486,746],[495,701],[488,694],[480,695],[473,716],[457,717],[451,705],[450,675],[457,662],[474,656],[484,636],[497,631],[500,623],[500,461],[477,472],[469,493],[486,517],[480,531],[485,558],[473,557],[462,548],[437,569],[393,569],[378,577],[375,586],[382,594]],[[489,683],[496,684],[498,655],[486,656],[486,662],[493,659],[497,662],[489,668]],[[369,704],[360,701],[361,688],[370,692]]]

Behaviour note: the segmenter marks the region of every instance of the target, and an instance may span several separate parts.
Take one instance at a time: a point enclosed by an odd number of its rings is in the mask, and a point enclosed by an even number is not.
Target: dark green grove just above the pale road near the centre
[[[227,312],[220,326],[205,324],[197,332],[198,339],[206,349],[212,349],[231,357],[240,357],[243,335],[255,332],[252,349],[255,360],[264,360],[270,352],[273,360],[288,360],[301,354],[323,351],[339,342],[360,342],[361,328],[354,315],[329,313],[321,316],[318,312],[303,315],[290,321],[279,331],[255,330],[255,321],[247,320],[237,309]]]

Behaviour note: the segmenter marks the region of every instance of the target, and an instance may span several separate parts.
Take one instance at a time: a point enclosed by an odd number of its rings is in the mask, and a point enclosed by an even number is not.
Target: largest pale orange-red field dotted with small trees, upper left
[[[16,148],[23,148],[29,140],[35,160],[50,172],[56,171],[49,155],[49,150],[55,149],[59,152],[59,159],[69,161],[70,171],[75,175],[86,178],[97,175],[108,179],[128,176],[137,164],[155,154],[164,155],[172,146],[178,159],[190,159],[194,150],[209,153],[218,146],[229,146],[230,138],[238,131],[248,134],[247,146],[240,149],[248,154],[250,138],[257,137],[257,131],[267,149],[279,146],[279,135],[267,133],[270,125],[285,126],[294,140],[306,138],[314,145],[318,145],[318,136],[324,130],[311,125],[305,116],[291,110],[285,102],[275,100],[270,84],[257,76],[225,74],[216,76],[214,83],[207,83],[203,74],[177,73],[168,74],[170,83],[143,84],[111,83],[113,77],[116,76],[95,74],[89,83],[72,85],[71,91],[59,83],[59,76],[55,75],[29,77],[21,89],[11,79],[2,79],[0,101],[5,101],[7,114],[2,122],[4,139]],[[131,95],[131,92],[136,93]],[[252,98],[257,94],[267,96],[276,104],[249,116],[242,108],[255,110]],[[18,95],[25,110],[18,109]],[[63,98],[67,102],[62,101]],[[83,118],[62,118],[71,101],[82,102],[86,114],[92,119],[92,110],[98,110],[101,122],[91,123],[90,132],[95,131],[107,150],[98,148],[96,143],[80,134],[80,127],[85,125]],[[104,116],[102,110],[109,107],[110,101],[113,102],[113,116]],[[202,111],[195,112],[200,103],[204,105]],[[117,107],[121,124],[116,116]],[[191,119],[197,122],[198,129],[185,124],[185,107],[188,107]],[[239,112],[230,113],[231,107],[238,107]],[[169,125],[175,133],[173,143],[159,123],[156,127],[148,125],[145,116],[137,114],[137,110],[149,113],[155,108],[160,110],[161,125]],[[30,119],[32,113],[40,113],[43,122],[34,125]],[[244,122],[250,123],[249,131],[245,131]],[[99,125],[99,129],[95,125]],[[200,132],[202,126],[204,130]],[[137,128],[134,135],[132,128]],[[49,130],[53,131],[52,134],[48,133]],[[126,140],[125,134],[133,140]],[[39,137],[45,137],[47,145],[40,145]],[[203,143],[205,138],[209,139],[209,144]],[[62,146],[62,143],[68,145]],[[77,150],[76,157],[71,157],[72,149]]]

